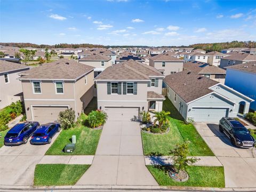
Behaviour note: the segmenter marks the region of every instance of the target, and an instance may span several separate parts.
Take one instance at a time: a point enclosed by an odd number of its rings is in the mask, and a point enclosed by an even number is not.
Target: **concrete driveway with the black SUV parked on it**
[[[224,166],[226,187],[256,187],[255,148],[234,147],[214,123],[194,123],[197,131]]]

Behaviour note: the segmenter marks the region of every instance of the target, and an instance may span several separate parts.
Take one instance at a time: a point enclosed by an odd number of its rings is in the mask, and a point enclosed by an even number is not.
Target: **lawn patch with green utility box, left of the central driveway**
[[[69,130],[62,130],[45,155],[94,155],[101,131],[93,130],[83,125],[77,125]],[[63,149],[68,143],[71,143],[72,135],[76,135],[76,149],[72,154],[64,153]]]

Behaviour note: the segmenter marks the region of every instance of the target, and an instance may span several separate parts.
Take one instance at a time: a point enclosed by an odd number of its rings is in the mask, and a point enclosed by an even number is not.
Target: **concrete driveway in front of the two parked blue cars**
[[[55,134],[51,144],[58,137]],[[26,145],[0,148],[0,185],[34,185],[35,166],[50,145]]]

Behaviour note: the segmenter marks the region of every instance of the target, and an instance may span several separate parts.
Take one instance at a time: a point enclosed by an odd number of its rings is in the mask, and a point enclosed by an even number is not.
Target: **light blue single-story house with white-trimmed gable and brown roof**
[[[166,76],[164,83],[167,97],[182,117],[195,122],[219,122],[222,117],[236,117],[241,103],[244,115],[254,101],[227,85],[187,70]]]

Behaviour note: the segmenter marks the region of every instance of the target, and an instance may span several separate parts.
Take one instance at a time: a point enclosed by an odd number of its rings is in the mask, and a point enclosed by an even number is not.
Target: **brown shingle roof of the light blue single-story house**
[[[209,87],[219,83],[187,70],[167,75],[164,82],[187,103],[213,92]]]

